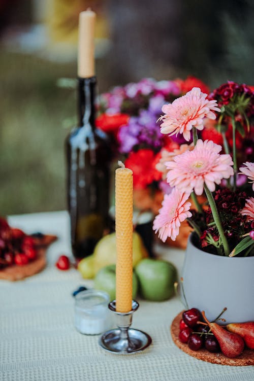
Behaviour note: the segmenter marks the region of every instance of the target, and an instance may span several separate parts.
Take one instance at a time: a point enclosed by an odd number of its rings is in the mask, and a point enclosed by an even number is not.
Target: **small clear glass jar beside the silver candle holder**
[[[85,335],[98,335],[111,328],[109,295],[104,291],[85,290],[75,296],[75,327]]]

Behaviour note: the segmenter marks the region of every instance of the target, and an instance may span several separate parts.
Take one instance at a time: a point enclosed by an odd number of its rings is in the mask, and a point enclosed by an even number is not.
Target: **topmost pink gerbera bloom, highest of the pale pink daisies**
[[[172,103],[164,105],[160,120],[161,132],[169,136],[182,133],[185,140],[190,140],[190,130],[196,127],[198,130],[204,128],[205,117],[216,119],[213,111],[220,111],[216,100],[206,99],[207,94],[201,92],[199,87],[194,87],[185,95],[175,99]]]

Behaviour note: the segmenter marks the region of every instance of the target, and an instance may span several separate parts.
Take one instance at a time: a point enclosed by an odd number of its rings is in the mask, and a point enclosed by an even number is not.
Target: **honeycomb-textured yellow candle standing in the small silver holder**
[[[133,172],[118,161],[115,171],[116,311],[132,310]]]

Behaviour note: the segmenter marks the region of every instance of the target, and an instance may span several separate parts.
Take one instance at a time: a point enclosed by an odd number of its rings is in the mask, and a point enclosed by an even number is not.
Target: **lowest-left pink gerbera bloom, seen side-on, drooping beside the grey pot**
[[[159,231],[158,236],[163,242],[168,237],[175,241],[181,222],[187,217],[192,217],[188,212],[191,205],[190,202],[186,202],[188,197],[189,194],[180,192],[176,188],[170,194],[164,195],[162,207],[153,221],[153,230],[155,233]]]

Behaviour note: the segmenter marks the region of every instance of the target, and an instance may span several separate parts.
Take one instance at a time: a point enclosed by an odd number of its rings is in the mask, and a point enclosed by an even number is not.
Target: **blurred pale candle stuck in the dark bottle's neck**
[[[94,76],[94,27],[96,14],[90,9],[79,14],[78,76]]]

